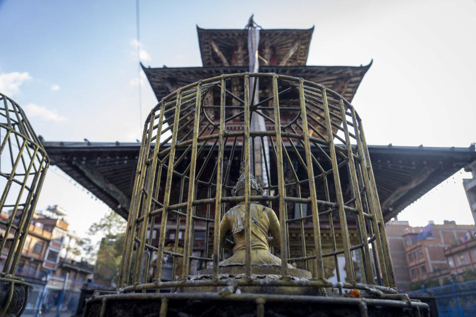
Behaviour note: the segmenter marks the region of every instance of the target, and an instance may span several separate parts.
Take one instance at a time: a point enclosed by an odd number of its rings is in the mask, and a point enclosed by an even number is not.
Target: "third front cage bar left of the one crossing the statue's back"
[[[157,250],[157,263],[155,271],[155,279],[157,281],[161,280],[162,276],[162,264],[164,262],[164,244],[165,244],[165,234],[167,232],[167,218],[169,215],[169,202],[170,202],[170,191],[172,187],[172,177],[174,174],[174,160],[175,160],[175,149],[177,145],[177,130],[179,129],[179,113],[180,113],[180,104],[182,100],[182,92],[177,92],[177,100],[175,104],[175,116],[174,116],[174,127],[172,129],[172,141],[170,144],[169,152],[169,163],[167,165],[167,180],[165,182],[164,190],[164,207],[162,208],[162,218],[160,219],[160,236],[159,236],[159,246]],[[157,131],[159,133],[159,130]],[[157,134],[157,138],[160,139],[160,135]],[[176,233],[177,235],[178,233]],[[159,290],[157,290],[159,291]]]

